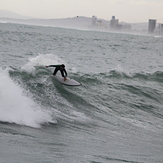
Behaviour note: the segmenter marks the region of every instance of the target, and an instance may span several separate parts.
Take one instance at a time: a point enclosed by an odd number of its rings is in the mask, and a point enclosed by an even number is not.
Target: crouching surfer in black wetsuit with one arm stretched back
[[[58,70],[61,72],[61,75],[62,77],[64,78],[64,81],[67,80],[67,72],[66,72],[66,69],[65,69],[65,65],[62,64],[62,65],[49,65],[49,66],[45,66],[45,67],[55,67],[55,70],[53,72],[53,75],[55,76],[56,73],[58,72]]]

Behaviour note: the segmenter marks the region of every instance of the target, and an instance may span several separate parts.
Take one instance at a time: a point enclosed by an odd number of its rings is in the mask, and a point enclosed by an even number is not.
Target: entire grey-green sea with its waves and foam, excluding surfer
[[[163,37],[0,23],[0,163],[163,163]]]

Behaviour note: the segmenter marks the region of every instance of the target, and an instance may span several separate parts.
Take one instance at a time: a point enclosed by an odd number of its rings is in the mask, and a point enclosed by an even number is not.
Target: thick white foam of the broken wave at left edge
[[[40,127],[53,122],[48,111],[25,95],[23,88],[14,83],[7,70],[0,69],[0,121]]]

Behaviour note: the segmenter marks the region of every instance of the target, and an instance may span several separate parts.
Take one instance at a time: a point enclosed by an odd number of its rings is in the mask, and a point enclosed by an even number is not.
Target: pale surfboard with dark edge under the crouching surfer
[[[52,78],[59,81],[61,84],[63,85],[67,85],[67,86],[80,86],[81,83],[79,83],[78,81],[74,80],[74,79],[70,79],[69,77],[66,77],[67,80],[64,81],[64,78],[62,76],[58,76],[58,75],[52,75]]]

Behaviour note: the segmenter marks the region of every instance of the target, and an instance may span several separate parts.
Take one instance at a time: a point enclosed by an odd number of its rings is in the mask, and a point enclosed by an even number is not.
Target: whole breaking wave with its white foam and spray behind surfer
[[[72,89],[50,78],[51,70],[45,65],[53,64],[52,61],[63,62],[54,55],[40,54],[21,68],[1,70],[1,122],[40,127],[45,123],[66,121],[88,126],[95,119],[112,124],[108,116],[123,117],[126,122],[133,118],[137,124],[142,124],[139,119],[147,114],[163,117],[160,107],[163,72],[130,74],[110,70],[82,74],[70,71],[70,76],[83,84]],[[11,105],[7,103],[10,99],[14,99]]]

